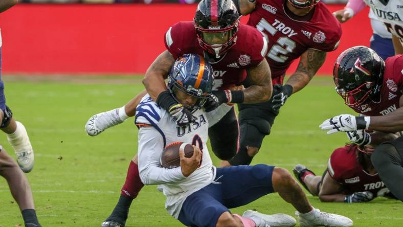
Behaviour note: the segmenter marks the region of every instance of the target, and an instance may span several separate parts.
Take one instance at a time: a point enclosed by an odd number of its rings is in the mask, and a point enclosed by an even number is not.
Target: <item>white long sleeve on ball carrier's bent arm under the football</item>
[[[164,150],[161,133],[154,127],[139,130],[139,173],[144,185],[161,185],[185,179],[181,167],[166,169],[160,167],[160,156]]]

